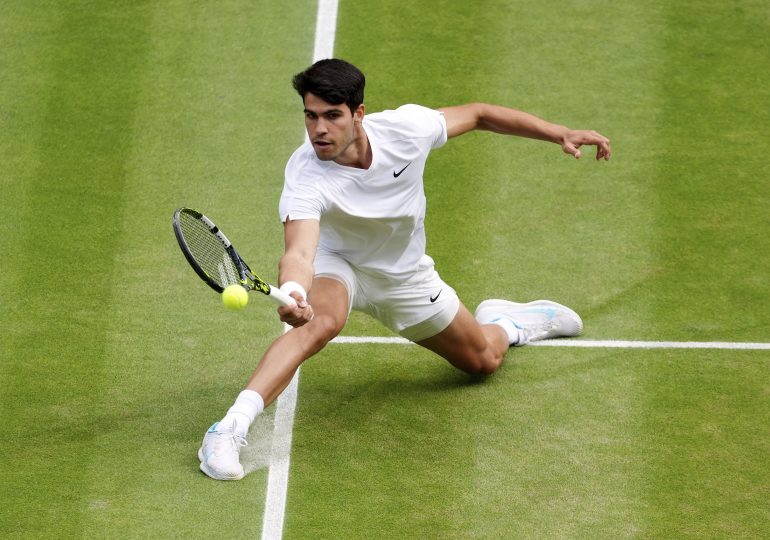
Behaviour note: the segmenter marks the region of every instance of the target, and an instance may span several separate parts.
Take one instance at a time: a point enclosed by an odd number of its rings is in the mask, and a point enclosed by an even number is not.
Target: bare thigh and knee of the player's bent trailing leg
[[[462,304],[449,326],[417,344],[466,373],[485,375],[497,371],[509,345],[500,326],[480,325]]]

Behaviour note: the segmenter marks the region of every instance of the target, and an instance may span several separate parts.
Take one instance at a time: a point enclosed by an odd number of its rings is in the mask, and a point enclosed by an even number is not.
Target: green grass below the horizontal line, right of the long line
[[[516,350],[473,382],[416,347],[341,347],[303,370],[289,537],[766,530],[766,354]]]

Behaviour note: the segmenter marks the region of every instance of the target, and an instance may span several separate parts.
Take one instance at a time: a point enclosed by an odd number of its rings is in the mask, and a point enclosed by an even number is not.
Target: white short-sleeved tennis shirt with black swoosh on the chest
[[[447,140],[444,115],[420,105],[369,114],[368,169],[321,161],[309,141],[286,164],[279,214],[317,219],[319,250],[337,254],[369,274],[412,276],[425,255],[423,170],[428,154]]]

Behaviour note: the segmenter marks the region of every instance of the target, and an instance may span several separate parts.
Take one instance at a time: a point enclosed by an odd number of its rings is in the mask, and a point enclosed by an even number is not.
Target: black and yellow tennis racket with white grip
[[[294,299],[278,287],[254,275],[230,240],[209,218],[190,208],[174,212],[174,234],[187,262],[206,284],[221,293],[228,285],[259,291],[281,306],[293,306]]]

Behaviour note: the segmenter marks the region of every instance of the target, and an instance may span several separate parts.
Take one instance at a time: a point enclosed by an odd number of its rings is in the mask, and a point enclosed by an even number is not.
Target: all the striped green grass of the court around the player
[[[315,3],[0,12],[0,535],[258,536],[266,470],[213,482],[195,452],[280,326],[221,309],[170,218],[204,209],[275,279]],[[483,133],[432,155],[429,253],[470,307],[767,342],[768,27],[756,1],[343,1],[336,52],[370,111],[490,101],[612,139],[609,163]],[[332,345],[302,370],[285,537],[766,537],[769,368],[533,347],[475,380]]]

